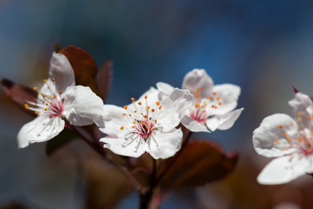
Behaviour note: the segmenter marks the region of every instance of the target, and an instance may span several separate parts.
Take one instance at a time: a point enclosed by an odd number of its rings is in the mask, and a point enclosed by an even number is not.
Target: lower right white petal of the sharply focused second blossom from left
[[[153,139],[151,139],[152,137]],[[166,133],[155,132],[152,137],[146,141],[148,144],[146,152],[150,153],[154,159],[166,159],[174,156],[181,149],[181,143],[183,142],[183,132],[181,129],[175,128]]]

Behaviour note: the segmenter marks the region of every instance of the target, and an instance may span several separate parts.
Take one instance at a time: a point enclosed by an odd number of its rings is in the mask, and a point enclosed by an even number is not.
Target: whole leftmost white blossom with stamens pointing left
[[[89,87],[75,86],[74,72],[66,56],[52,54],[49,79],[44,82],[36,102],[25,104],[26,109],[35,111],[38,116],[17,134],[19,148],[52,139],[63,130],[66,121],[79,126],[94,122],[103,125],[101,98]]]

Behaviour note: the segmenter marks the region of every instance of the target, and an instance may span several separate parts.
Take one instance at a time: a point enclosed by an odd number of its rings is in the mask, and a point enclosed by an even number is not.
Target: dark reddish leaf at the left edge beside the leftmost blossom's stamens
[[[35,98],[37,98],[37,91],[34,91],[33,88],[23,86],[22,84],[17,84],[8,79],[2,79],[1,84],[10,100],[15,102],[15,104],[21,107],[28,114],[36,116],[34,111],[25,109],[24,104],[26,103],[26,100],[35,102]]]

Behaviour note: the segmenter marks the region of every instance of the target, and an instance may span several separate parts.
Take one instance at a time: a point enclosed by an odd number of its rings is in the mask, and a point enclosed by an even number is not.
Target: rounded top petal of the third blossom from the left
[[[212,93],[213,79],[206,73],[204,69],[194,69],[188,72],[183,78],[181,88],[188,89],[190,92],[194,89],[202,88],[201,98],[208,98]]]

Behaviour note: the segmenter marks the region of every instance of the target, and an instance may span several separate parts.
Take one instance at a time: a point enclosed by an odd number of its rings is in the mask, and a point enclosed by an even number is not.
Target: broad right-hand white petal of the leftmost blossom
[[[75,86],[62,94],[62,115],[71,125],[90,125],[101,123],[103,114],[103,101],[91,88]]]

